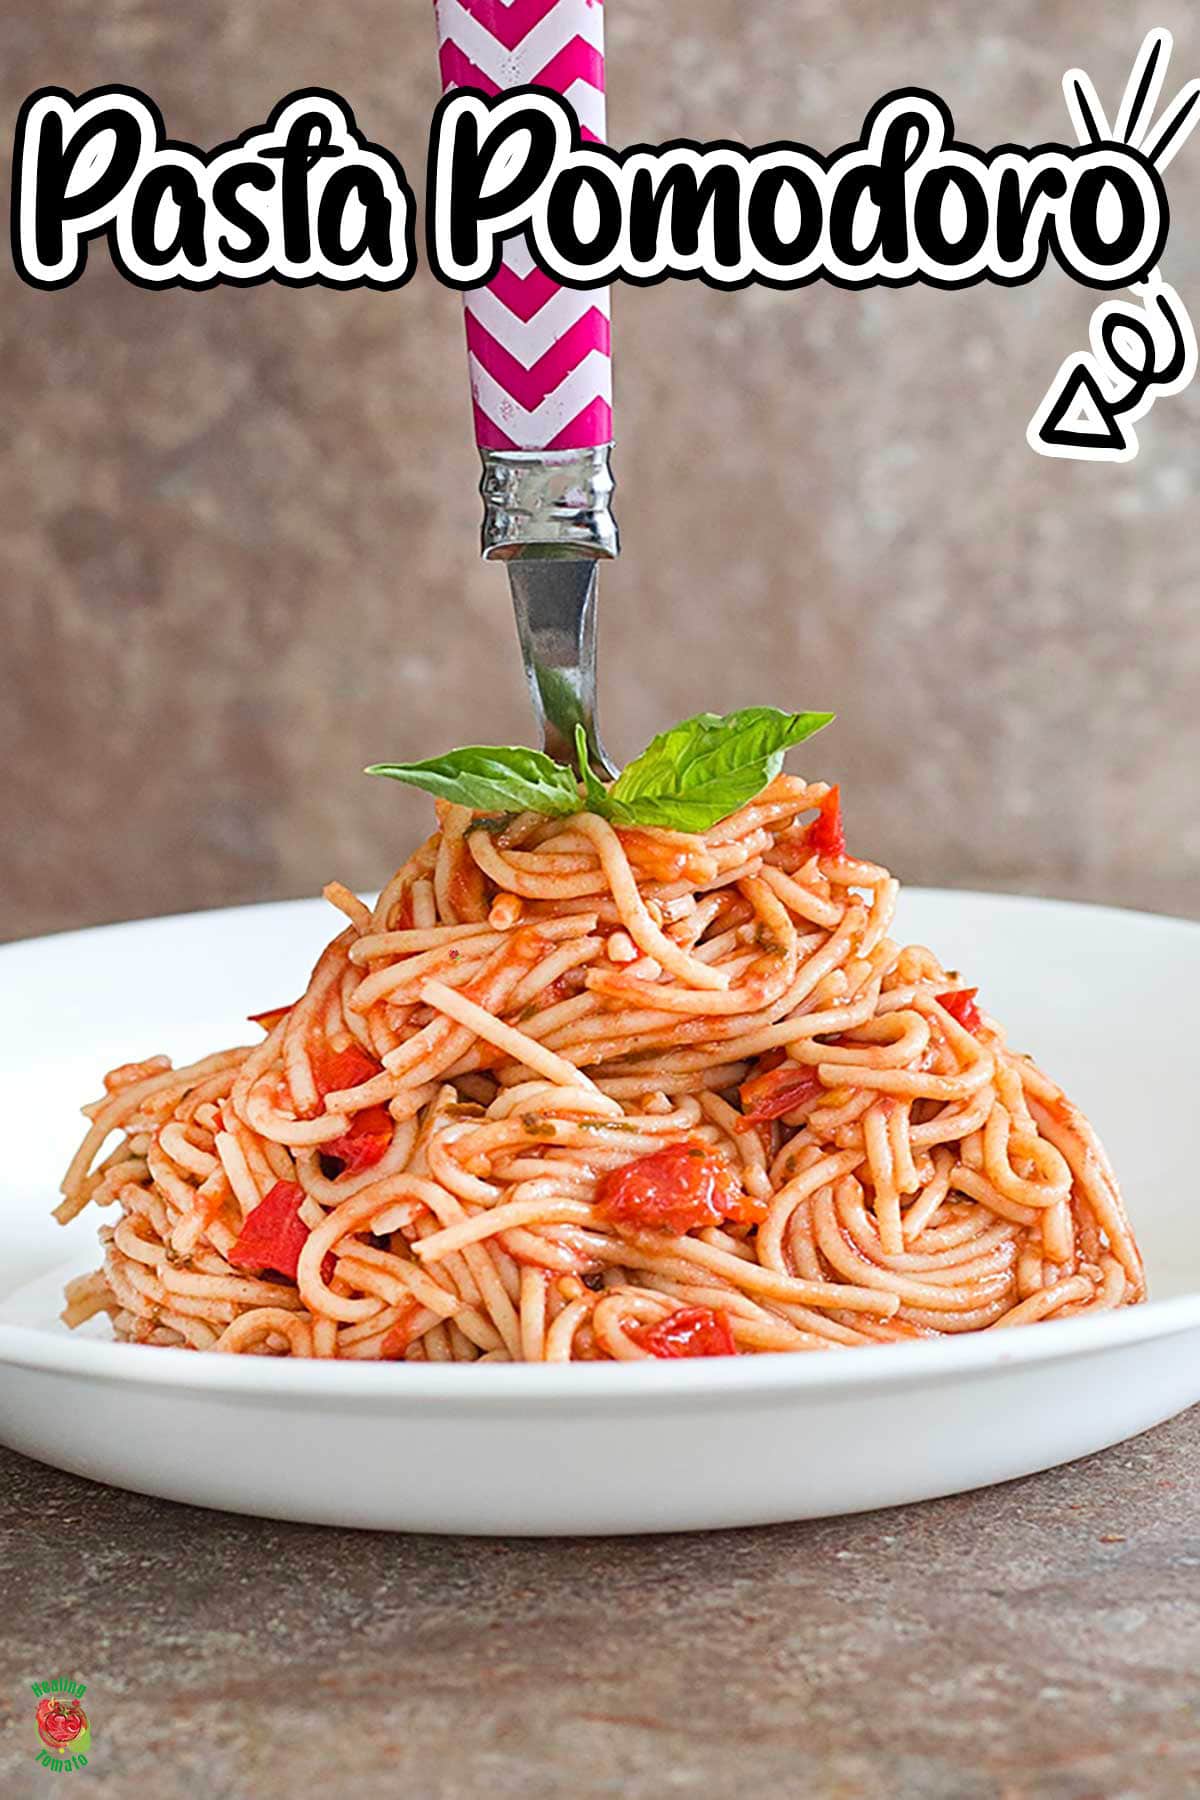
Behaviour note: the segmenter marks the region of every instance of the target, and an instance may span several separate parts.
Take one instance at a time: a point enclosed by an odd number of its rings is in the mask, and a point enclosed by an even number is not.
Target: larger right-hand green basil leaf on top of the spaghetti
[[[707,832],[745,806],[783,769],[784,751],[828,725],[833,713],[747,706],[698,713],[664,731],[606,794],[610,817],[676,832]]]

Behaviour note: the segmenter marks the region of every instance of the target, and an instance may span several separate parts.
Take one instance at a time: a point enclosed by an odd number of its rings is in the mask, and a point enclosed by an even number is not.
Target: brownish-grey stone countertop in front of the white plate
[[[0,1791],[86,1681],[95,1800],[1180,1800],[1200,1408],[1025,1481],[685,1537],[392,1537],[0,1451]],[[74,1791],[74,1789],[72,1789]]]

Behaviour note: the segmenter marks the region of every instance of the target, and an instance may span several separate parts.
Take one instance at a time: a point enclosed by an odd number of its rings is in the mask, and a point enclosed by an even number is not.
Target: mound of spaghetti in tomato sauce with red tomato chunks
[[[826,1350],[1144,1296],[1079,1111],[889,938],[837,788],[705,833],[439,803],[263,1042],[115,1069],[65,1319],[196,1350]],[[121,1134],[106,1152],[110,1136]]]

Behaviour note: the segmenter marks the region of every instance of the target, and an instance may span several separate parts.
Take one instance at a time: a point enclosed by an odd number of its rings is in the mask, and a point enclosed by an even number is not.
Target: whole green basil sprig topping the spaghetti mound
[[[698,713],[660,733],[604,787],[588,765],[587,736],[576,727],[579,779],[542,751],[471,745],[425,763],[374,763],[390,776],[475,812],[597,812],[617,824],[707,832],[772,781],[784,751],[828,725],[833,713],[781,713],[747,706],[738,713]],[[583,794],[579,792],[583,787]]]

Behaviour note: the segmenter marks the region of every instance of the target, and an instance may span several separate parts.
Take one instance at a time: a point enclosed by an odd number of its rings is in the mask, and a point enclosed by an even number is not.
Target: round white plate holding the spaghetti
[[[1200,1400],[1200,925],[907,893],[900,929],[1108,1143],[1150,1305],[1060,1325],[676,1364],[419,1366],[205,1357],[56,1321],[97,1215],[49,1217],[103,1069],[245,1037],[293,999],[318,902],[113,925],[0,950],[0,1440],[146,1494],[329,1525],[574,1534],[759,1525],[952,1494],[1115,1444]],[[63,1260],[67,1256],[67,1260]]]

